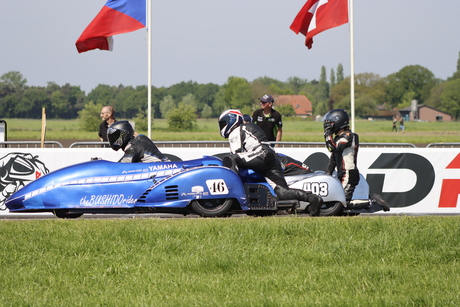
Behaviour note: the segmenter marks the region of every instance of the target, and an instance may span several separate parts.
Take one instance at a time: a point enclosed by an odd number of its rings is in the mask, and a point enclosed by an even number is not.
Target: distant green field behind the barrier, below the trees
[[[6,119],[8,140],[40,140],[41,120]],[[355,131],[361,142],[428,144],[460,142],[460,122],[406,122],[404,133],[391,132],[391,121],[357,120]],[[146,131],[139,131],[146,134]],[[98,141],[97,132],[82,131],[79,120],[47,120],[46,140]],[[216,119],[200,119],[195,131],[171,132],[165,119],[153,119],[156,141],[222,141]],[[323,142],[322,123],[285,118],[285,142]]]

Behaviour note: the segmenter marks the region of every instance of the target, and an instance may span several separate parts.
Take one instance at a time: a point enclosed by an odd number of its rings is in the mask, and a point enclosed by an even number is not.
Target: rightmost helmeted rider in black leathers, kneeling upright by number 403
[[[323,127],[326,148],[331,152],[325,173],[332,175],[337,169],[337,178],[342,183],[349,209],[368,209],[369,203],[353,204],[351,202],[353,192],[359,183],[359,137],[350,130],[348,113],[342,109],[329,111],[323,117]],[[373,194],[371,201],[382,206],[384,211],[390,210],[379,194]]]

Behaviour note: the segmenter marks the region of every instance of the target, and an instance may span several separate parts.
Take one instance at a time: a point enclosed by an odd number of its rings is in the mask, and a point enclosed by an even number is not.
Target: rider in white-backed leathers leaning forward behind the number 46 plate
[[[290,189],[283,176],[280,160],[270,146],[263,130],[253,123],[243,123],[239,110],[227,110],[219,116],[220,134],[229,140],[230,155],[223,158],[224,166],[238,172],[252,169],[265,177],[280,200],[297,199],[310,203],[310,215],[318,216],[321,197],[298,189]]]

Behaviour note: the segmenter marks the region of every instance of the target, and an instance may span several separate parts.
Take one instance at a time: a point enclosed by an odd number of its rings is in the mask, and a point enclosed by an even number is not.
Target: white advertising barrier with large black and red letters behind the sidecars
[[[172,160],[219,156],[228,148],[160,147]],[[322,148],[276,148],[277,152],[324,170],[329,153]],[[118,161],[110,148],[0,148],[0,215],[5,200],[22,186],[53,170],[91,159]],[[460,153],[458,148],[360,148],[360,173],[370,194],[390,204],[390,214],[459,214]]]

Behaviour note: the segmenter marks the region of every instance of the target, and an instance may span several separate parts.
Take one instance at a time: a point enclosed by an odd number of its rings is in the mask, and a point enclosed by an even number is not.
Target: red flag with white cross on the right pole
[[[308,0],[290,28],[305,35],[305,45],[311,49],[313,36],[347,22],[348,0]]]

